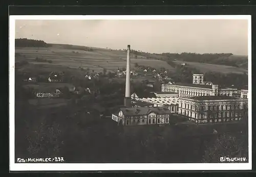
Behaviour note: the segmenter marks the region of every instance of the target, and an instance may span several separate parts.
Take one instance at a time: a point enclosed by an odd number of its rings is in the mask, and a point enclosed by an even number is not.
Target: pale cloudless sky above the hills
[[[15,38],[148,53],[248,55],[246,19],[16,20]]]

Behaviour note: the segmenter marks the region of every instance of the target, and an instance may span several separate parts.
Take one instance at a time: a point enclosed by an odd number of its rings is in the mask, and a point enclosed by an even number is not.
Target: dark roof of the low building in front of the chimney
[[[167,107],[141,107],[141,108],[121,108],[120,111],[123,112],[124,116],[133,116],[133,115],[147,115],[151,112],[157,114],[170,114],[170,111]]]

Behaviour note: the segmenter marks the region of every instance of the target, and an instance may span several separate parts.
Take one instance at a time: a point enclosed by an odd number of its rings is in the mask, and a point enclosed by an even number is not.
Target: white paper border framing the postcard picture
[[[170,19],[247,19],[248,20],[248,163],[15,163],[15,20],[170,20]],[[10,171],[73,170],[251,170],[252,95],[251,95],[251,15],[11,15],[9,16],[9,142]]]

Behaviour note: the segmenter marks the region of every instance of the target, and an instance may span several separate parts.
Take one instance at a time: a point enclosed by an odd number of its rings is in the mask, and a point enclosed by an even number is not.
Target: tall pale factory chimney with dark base
[[[131,99],[131,86],[130,86],[130,47],[131,45],[127,45],[127,63],[126,63],[126,82],[125,82],[125,97],[124,97],[124,106],[131,107],[132,99]]]

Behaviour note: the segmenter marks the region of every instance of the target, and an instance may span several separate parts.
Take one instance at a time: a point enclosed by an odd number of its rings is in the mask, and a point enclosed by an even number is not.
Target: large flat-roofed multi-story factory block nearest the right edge
[[[179,114],[196,123],[241,120],[248,116],[248,99],[231,96],[181,97]]]

